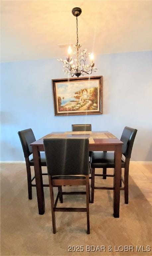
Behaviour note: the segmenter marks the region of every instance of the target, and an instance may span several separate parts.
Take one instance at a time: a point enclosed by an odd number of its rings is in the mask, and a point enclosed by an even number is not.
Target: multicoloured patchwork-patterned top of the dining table
[[[76,132],[51,132],[39,140],[31,143],[31,146],[43,145],[44,138],[89,138],[89,145],[122,145],[123,142],[117,139],[108,131],[76,131]]]

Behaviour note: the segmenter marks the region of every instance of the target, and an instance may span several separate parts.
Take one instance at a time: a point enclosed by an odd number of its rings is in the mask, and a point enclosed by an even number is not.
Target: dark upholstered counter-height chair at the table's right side
[[[121,160],[121,168],[124,168],[124,178],[121,175],[121,181],[124,184],[124,187],[120,188],[124,190],[124,202],[128,204],[128,176],[129,176],[129,162],[131,157],[131,151],[133,142],[136,136],[137,130],[125,127],[122,135],[121,141],[124,143],[122,145],[122,155],[125,157],[125,160]],[[95,174],[95,168],[103,168],[105,172],[103,174]],[[95,187],[95,176],[103,177],[114,177],[114,175],[107,175],[107,168],[114,168],[114,153],[98,152],[95,151],[91,154],[91,202],[94,202],[94,189],[114,189],[108,187]]]

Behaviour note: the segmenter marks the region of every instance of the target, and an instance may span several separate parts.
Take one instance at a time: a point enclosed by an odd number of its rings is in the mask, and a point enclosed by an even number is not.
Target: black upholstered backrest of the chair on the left
[[[30,144],[36,141],[34,133],[32,129],[26,129],[18,132],[18,135],[22,144],[24,157],[29,157],[32,154],[32,146]]]

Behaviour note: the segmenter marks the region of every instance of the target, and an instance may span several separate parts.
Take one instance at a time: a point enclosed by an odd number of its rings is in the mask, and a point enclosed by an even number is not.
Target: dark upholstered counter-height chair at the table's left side
[[[31,178],[31,166],[34,166],[34,161],[33,161],[33,158],[29,160],[29,156],[32,154],[32,147],[30,146],[30,144],[36,141],[36,138],[34,136],[32,129],[26,129],[26,130],[20,131],[18,132],[18,135],[20,137],[20,141],[22,144],[23,152],[24,152],[25,162],[26,162],[29,199],[32,199],[32,187],[36,187],[36,185],[32,184],[32,181],[35,179],[35,176]],[[41,163],[41,166],[46,166],[46,159],[45,159],[44,152],[40,152],[40,163]],[[47,173],[42,173],[42,175],[47,175]],[[49,185],[43,184],[43,187],[49,187]],[[58,187],[58,190],[62,191],[61,186]],[[62,202],[62,197],[60,197],[60,202]]]

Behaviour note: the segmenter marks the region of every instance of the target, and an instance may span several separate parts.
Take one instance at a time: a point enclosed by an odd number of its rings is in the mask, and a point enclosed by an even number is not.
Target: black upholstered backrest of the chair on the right
[[[131,157],[132,146],[133,146],[136,133],[137,133],[137,129],[130,128],[127,126],[124,127],[120,140],[123,142],[122,154],[126,158]]]

